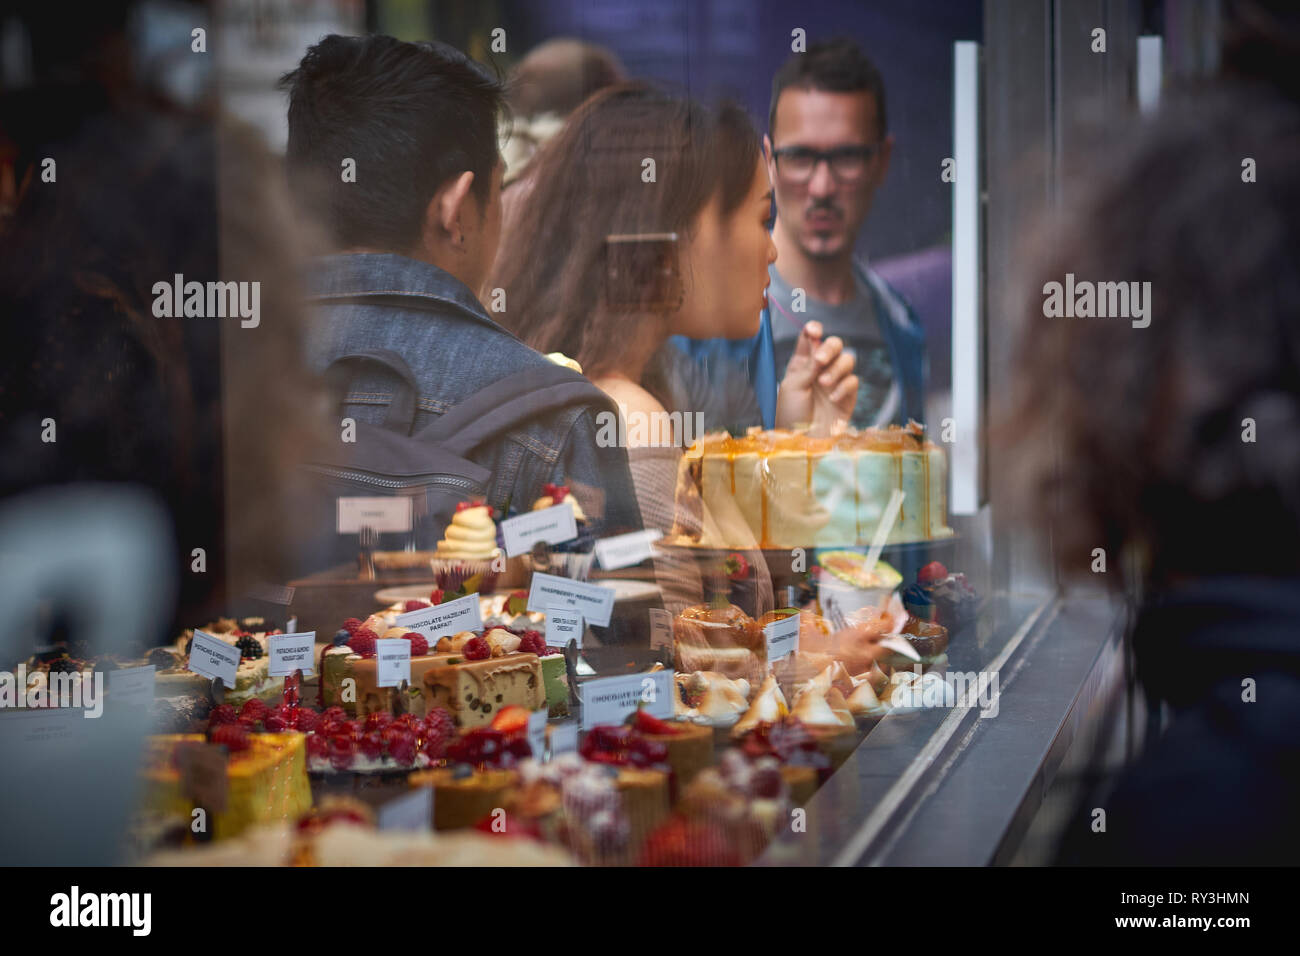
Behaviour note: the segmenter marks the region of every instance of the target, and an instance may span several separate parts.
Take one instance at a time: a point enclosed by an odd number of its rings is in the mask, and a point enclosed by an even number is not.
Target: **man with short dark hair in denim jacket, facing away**
[[[408,386],[377,352],[413,376],[412,436],[494,382],[549,375],[477,298],[500,235],[500,83],[446,44],[326,36],[282,86],[290,179],[337,250],[309,277],[308,358],[347,372],[342,415],[377,425],[402,407]],[[640,528],[625,453],[597,446],[598,411],[538,399],[536,418],[474,446],[488,505],[526,511],[568,484],[594,533]]]

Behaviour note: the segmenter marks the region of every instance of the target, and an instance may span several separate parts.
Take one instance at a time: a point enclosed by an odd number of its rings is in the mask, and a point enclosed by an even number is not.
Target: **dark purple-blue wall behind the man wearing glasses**
[[[372,26],[385,22],[382,0]],[[495,0],[425,8],[422,26],[503,68],[551,36],[580,36],[612,48],[633,75],[693,96],[744,103],[763,131],[772,74],[790,56],[790,31],[809,40],[857,39],[885,78],[893,168],[876,198],[859,250],[872,259],[939,243],[950,229],[940,163],[952,155],[954,40],[978,40],[982,7],[962,0]],[[410,23],[410,21],[407,21]],[[488,53],[490,31],[507,31],[508,53]]]

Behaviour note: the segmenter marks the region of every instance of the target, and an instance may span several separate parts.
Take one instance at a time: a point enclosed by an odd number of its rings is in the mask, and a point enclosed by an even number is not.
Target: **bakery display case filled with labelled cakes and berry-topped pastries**
[[[369,25],[400,7],[367,4]],[[506,510],[442,488],[459,501],[438,520],[421,511],[424,492],[372,483],[369,497],[339,497],[334,527],[313,529],[330,540],[317,561],[152,646],[138,635],[168,619],[161,597],[98,641],[68,640],[94,610],[83,597],[36,600],[26,579],[0,580],[5,606],[52,635],[12,661],[29,697],[84,682],[117,711],[84,740],[34,726],[55,710],[44,704],[0,713],[6,765],[39,774],[57,753],[68,790],[36,809],[23,809],[39,804],[30,787],[0,797],[6,821],[32,821],[26,848],[72,812],[84,787],[73,767],[104,770],[79,763],[94,743],[118,763],[84,826],[116,836],[66,848],[68,862],[1011,860],[1058,769],[1102,745],[1098,728],[1130,689],[1122,609],[1100,591],[1062,593],[1050,528],[1017,523],[1001,497],[1018,449],[988,421],[1017,375],[1004,320],[1014,239],[1026,182],[1048,190],[1056,174],[1050,156],[1011,157],[1053,142],[1058,117],[1118,91],[1128,66],[1118,53],[1075,62],[1045,22],[1027,25],[1043,13],[979,7],[930,36],[950,66],[940,92],[952,114],[927,146],[962,176],[907,181],[941,224],[937,281],[950,290],[916,320],[941,369],[924,381],[924,423],[712,429],[681,449],[672,523],[651,536],[597,531],[576,485]],[[780,20],[763,16],[764,30]],[[911,21],[898,16],[902,33]],[[439,21],[482,39],[469,13],[456,23]],[[1135,40],[1130,26],[1113,22],[1113,49]],[[1041,103],[1026,77],[1050,69],[1070,83]],[[937,168],[940,155],[918,156]],[[224,334],[229,376],[238,350]],[[257,499],[234,485],[233,507]],[[170,561],[146,528],[101,533]],[[88,550],[44,583],[69,568],[118,581],[114,561],[107,545]],[[121,572],[122,587],[147,591],[151,575],[139,578]],[[100,581],[94,597],[116,614],[108,591]]]

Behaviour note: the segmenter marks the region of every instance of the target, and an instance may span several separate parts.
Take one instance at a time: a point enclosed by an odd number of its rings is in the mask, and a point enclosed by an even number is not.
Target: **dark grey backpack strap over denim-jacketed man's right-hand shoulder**
[[[556,364],[540,365],[478,389],[422,428],[417,437],[464,458],[530,419],[573,405],[616,414],[612,399],[577,372]]]

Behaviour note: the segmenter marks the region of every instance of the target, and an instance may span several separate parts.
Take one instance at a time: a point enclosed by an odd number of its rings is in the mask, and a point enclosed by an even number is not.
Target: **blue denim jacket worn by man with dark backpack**
[[[413,431],[471,393],[549,362],[494,323],[463,282],[428,263],[393,254],[324,256],[307,285],[309,367],[320,373],[365,349],[398,352],[419,384]],[[363,365],[341,418],[382,424],[395,384],[381,367]],[[627,453],[599,447],[598,427],[592,408],[571,406],[480,447],[471,458],[493,473],[488,503],[498,515],[528,511],[552,481],[572,488],[593,533],[640,529]]]

